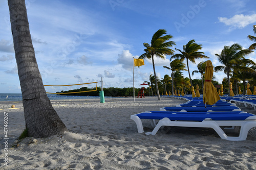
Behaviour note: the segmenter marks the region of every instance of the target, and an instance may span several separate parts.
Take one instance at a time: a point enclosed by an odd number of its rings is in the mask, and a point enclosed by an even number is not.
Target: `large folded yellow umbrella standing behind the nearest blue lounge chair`
[[[220,100],[220,96],[216,88],[211,83],[212,76],[214,76],[214,66],[212,65],[210,60],[207,60],[206,67],[205,67],[203,100],[204,100],[204,104],[208,104],[208,105],[213,105]]]

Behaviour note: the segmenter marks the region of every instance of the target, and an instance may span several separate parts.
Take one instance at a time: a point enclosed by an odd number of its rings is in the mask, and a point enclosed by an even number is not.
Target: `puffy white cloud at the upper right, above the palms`
[[[231,18],[218,17],[218,19],[220,22],[225,23],[226,26],[230,26],[231,28],[242,29],[248,26],[249,24],[256,22],[256,14],[252,14],[252,15],[237,14]]]

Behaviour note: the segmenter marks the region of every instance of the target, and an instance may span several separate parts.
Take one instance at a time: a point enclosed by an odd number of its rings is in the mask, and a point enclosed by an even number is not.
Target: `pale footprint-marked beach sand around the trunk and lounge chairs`
[[[256,169],[256,129],[245,141],[227,141],[204,128],[164,127],[155,136],[139,134],[132,114],[185,102],[161,99],[52,100],[69,132],[31,144],[34,138],[26,138],[17,148],[13,142],[25,129],[22,102],[0,102],[0,169]],[[9,109],[13,104],[18,109]],[[4,112],[9,118],[8,166]],[[150,121],[143,125],[152,130]]]

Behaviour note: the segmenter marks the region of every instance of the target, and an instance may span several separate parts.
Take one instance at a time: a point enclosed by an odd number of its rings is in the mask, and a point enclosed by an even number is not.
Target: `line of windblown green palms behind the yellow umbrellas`
[[[253,31],[254,34],[256,34],[256,26],[253,26]],[[165,94],[167,94],[167,88],[170,86],[170,84],[172,84],[172,95],[175,95],[174,89],[176,89],[176,91],[177,89],[190,91],[191,87],[196,84],[194,84],[193,80],[191,79],[188,61],[196,64],[196,59],[209,58],[208,56],[204,55],[204,52],[201,52],[202,44],[197,44],[194,39],[183,45],[182,50],[175,48],[175,50],[178,52],[175,54],[175,51],[169,48],[176,45],[174,41],[169,41],[171,38],[173,38],[173,36],[165,34],[166,30],[160,29],[153,35],[151,44],[143,43],[145,53],[139,57],[139,59],[147,58],[152,60],[154,75],[150,76],[150,81],[147,83],[149,86],[151,85],[155,88],[156,95],[158,95],[158,100],[161,100],[159,92],[161,88],[164,88]],[[248,35],[248,39],[256,42],[256,37],[254,36]],[[251,82],[251,85],[255,85],[256,64],[252,60],[245,58],[255,49],[256,43],[251,44],[246,49],[244,49],[242,45],[234,43],[231,46],[225,45],[220,54],[215,54],[219,62],[222,64],[216,66],[215,71],[224,71],[224,73],[227,75],[227,78],[223,79],[222,81],[225,89],[229,89],[229,84],[232,82],[235,85],[236,91],[238,85],[240,85],[243,87],[243,93],[245,94],[246,83]],[[171,56],[169,59],[169,66],[163,67],[171,70],[172,73],[170,76],[164,75],[164,78],[159,80],[159,78],[156,76],[154,57],[165,59],[165,57],[168,55]],[[197,67],[198,70],[194,70],[192,75],[195,73],[201,74],[201,83],[198,82],[197,84],[199,86],[201,85],[201,89],[203,90],[205,62],[198,63]],[[188,71],[189,78],[184,78],[182,73],[183,70]],[[170,81],[172,81],[172,83],[170,83]],[[219,85],[216,85],[216,87],[218,86]],[[230,95],[230,90],[228,90],[228,94]]]

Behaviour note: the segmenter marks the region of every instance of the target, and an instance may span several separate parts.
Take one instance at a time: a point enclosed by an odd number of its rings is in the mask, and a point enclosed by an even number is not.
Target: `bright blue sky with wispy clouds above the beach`
[[[38,67],[46,85],[89,83],[103,77],[103,87],[133,87],[132,58],[143,54],[143,43],[150,43],[159,29],[173,36],[173,50],[195,39],[217,66],[220,63],[215,54],[220,54],[224,45],[239,43],[248,48],[253,43],[247,36],[254,35],[252,26],[256,25],[255,0],[27,0],[26,6]],[[0,16],[0,93],[21,93],[5,0],[0,0]],[[255,53],[247,58],[256,62]],[[169,66],[169,59],[156,59],[160,79],[170,75],[163,68]],[[197,70],[201,61],[206,59],[189,62],[190,70]],[[148,81],[151,74],[150,60],[135,67],[135,87]],[[188,77],[187,71],[183,74]],[[225,77],[222,72],[214,75],[219,82]],[[200,79],[200,75],[192,78]]]

